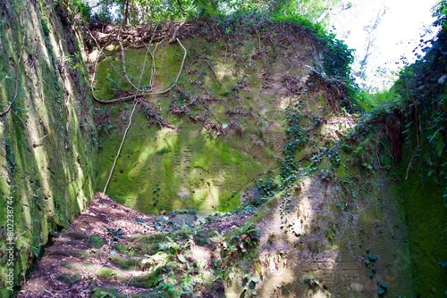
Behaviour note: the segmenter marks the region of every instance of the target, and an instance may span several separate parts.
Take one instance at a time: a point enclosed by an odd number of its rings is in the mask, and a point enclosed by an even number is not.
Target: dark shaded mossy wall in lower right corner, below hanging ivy
[[[409,226],[414,287],[419,297],[442,297],[447,286],[447,260],[443,186],[437,178],[426,177],[426,170],[409,170],[412,151],[401,161],[401,203]],[[408,175],[408,178],[404,178]]]

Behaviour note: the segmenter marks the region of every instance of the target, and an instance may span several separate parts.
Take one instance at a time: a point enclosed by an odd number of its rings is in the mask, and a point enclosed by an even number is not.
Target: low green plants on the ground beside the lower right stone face
[[[205,276],[207,262],[191,256],[190,250],[197,244],[196,230],[188,230],[190,235],[186,238],[182,236],[184,233],[166,236],[158,245],[159,252],[147,255],[140,264],[149,273],[133,278],[131,286],[151,288],[164,297],[190,297],[191,294],[199,293],[209,283],[209,277]],[[231,282],[238,271],[238,262],[251,260],[256,252],[259,232],[255,224],[250,223],[232,233],[215,231],[214,235],[209,239],[215,244],[216,253],[220,257],[215,259],[211,272],[215,277]],[[248,277],[246,286],[250,293],[253,293],[256,284],[255,277]]]

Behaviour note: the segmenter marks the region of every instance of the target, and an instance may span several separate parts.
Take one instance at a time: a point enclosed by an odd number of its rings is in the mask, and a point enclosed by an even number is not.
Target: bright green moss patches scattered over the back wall
[[[206,43],[203,40],[200,42]],[[186,45],[188,46],[188,43]],[[207,46],[210,49],[215,47],[210,44]],[[180,67],[180,57],[182,55],[178,46],[159,46],[156,52],[158,85],[170,85],[170,78],[176,75],[176,70]],[[237,110],[241,106],[248,109],[254,117],[239,119],[241,129],[245,132],[242,135],[231,132],[224,137],[215,136],[215,133],[203,128],[203,123],[171,114],[169,98],[163,95],[150,97],[148,101],[161,107],[162,117],[175,128],[159,128],[156,125],[148,127],[145,115],[140,112],[134,114],[132,127],[128,131],[122,153],[107,186],[107,194],[117,202],[148,213],[176,209],[231,211],[240,206],[240,190],[276,166],[275,157],[278,152],[272,150],[272,145],[266,142],[266,139],[255,137],[259,131],[257,121],[265,123],[263,127],[266,129],[268,119],[265,117],[276,120],[275,115],[281,114],[275,112],[258,118],[257,112],[265,114],[266,111],[277,109],[271,95],[263,95],[260,92],[262,89],[259,88],[259,96],[262,97],[259,101],[235,100],[232,97],[232,88],[238,83],[230,71],[235,66],[234,61],[229,59],[228,62],[223,62],[212,55],[207,57],[207,62],[191,62],[190,67],[198,70],[190,75],[191,78],[182,74],[179,81],[179,87],[183,90],[181,92],[187,96],[201,97],[206,95],[204,90],[207,90],[207,94],[217,98],[223,96],[225,103],[213,101],[203,107],[191,108],[193,112],[205,113],[209,121],[216,125],[222,124],[223,127],[230,124],[226,109]],[[144,55],[142,51],[131,51],[129,54],[126,52],[126,59],[130,62],[132,59],[141,62]],[[109,92],[110,84],[114,84],[109,77],[114,74],[109,73],[110,65],[105,61],[100,63],[99,69],[101,71],[97,73],[97,90]],[[257,77],[256,70],[259,70],[258,66],[252,70],[252,75]],[[191,85],[190,81],[193,79],[202,81],[204,90],[197,85]],[[121,78],[115,76],[113,80],[117,86],[125,86]],[[175,96],[178,95],[174,93]],[[118,129],[100,139],[103,147],[99,154],[100,189],[105,186],[116,148],[122,141],[123,128],[128,121],[129,112],[125,111],[130,111],[131,105],[124,103],[120,106],[119,109],[113,110],[111,117],[116,120],[114,128]],[[154,188],[159,189],[153,192]]]

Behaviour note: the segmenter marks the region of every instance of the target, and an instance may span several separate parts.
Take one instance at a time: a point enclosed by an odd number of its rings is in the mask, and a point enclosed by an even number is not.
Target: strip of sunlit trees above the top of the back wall
[[[87,13],[80,4],[82,0],[76,0],[76,3],[79,3],[77,6],[81,13]],[[93,18],[105,22],[141,23],[259,13],[289,18],[301,16],[309,22],[316,22],[324,12],[339,3],[340,0],[100,0]]]

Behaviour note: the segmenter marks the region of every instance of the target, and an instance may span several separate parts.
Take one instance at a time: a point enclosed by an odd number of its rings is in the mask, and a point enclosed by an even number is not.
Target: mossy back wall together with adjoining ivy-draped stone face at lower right
[[[407,231],[382,168],[391,158],[377,161],[378,130],[356,127],[341,90],[310,70],[318,56],[310,37],[276,37],[267,45],[253,32],[243,40],[181,38],[188,51],[181,79],[168,94],[139,97],[107,194],[151,213],[228,211],[265,195],[254,218],[260,245],[229,261],[255,277],[262,297],[376,297],[379,279],[391,296],[411,295]],[[137,85],[145,51],[109,53],[98,64],[97,96],[131,91],[119,75],[122,58]],[[179,45],[158,46],[154,91],[170,86],[182,54]],[[97,105],[100,186],[132,109],[132,102]],[[255,179],[262,195],[250,198]],[[248,296],[240,280],[225,285],[225,296]]]

